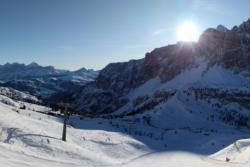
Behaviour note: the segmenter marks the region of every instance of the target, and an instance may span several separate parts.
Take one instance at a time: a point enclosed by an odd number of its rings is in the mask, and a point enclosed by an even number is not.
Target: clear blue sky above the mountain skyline
[[[176,43],[186,21],[199,31],[250,17],[249,0],[0,0],[0,64],[101,69]]]

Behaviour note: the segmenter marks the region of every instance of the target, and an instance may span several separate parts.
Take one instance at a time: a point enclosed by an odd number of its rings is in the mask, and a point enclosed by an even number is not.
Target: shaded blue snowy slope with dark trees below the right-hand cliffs
[[[217,123],[249,127],[250,78],[206,66],[185,71],[166,83],[158,77],[131,90],[114,117],[150,118],[159,128],[210,127]]]

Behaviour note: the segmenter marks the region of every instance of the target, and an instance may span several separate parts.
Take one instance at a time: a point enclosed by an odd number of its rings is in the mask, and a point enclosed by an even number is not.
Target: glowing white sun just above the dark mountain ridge
[[[198,28],[193,22],[186,21],[178,27],[177,37],[178,41],[198,41]]]

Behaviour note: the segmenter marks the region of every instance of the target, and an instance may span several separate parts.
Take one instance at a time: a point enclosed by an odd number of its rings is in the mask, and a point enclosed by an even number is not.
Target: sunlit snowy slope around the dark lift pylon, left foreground
[[[79,117],[70,120],[67,142],[63,142],[60,117],[37,113],[41,109],[45,112],[46,107],[29,103],[25,103],[26,109],[19,109],[19,102],[6,99],[13,104],[0,101],[1,165],[108,165],[129,161],[149,150],[140,141],[117,132],[74,128],[99,125],[97,122],[79,124]]]

